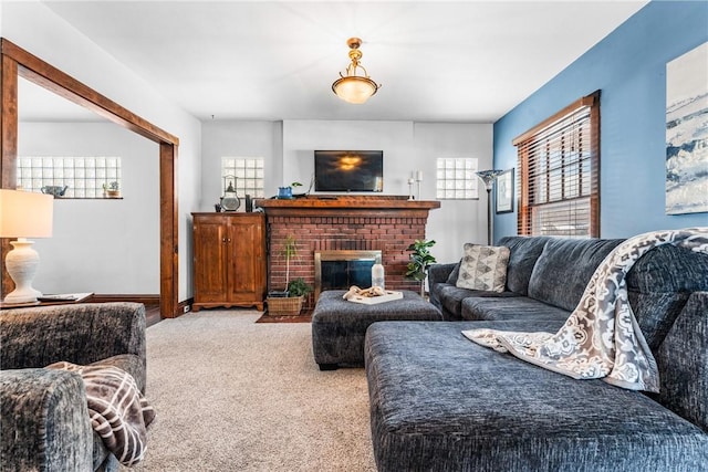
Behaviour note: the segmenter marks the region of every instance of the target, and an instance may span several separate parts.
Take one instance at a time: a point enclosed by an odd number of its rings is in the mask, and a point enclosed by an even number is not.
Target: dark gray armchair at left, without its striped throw
[[[145,392],[145,306],[87,303],[0,312],[2,470],[114,471],[93,431],[81,375],[43,367],[96,361]]]

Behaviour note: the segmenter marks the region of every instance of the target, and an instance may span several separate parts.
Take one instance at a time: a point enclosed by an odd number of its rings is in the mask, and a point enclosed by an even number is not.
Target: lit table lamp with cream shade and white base
[[[32,289],[32,281],[40,265],[40,255],[27,238],[49,238],[52,235],[54,197],[30,191],[0,189],[0,238],[18,238],[11,241],[4,263],[14,282],[14,291],[9,293],[4,304],[37,302],[42,296]]]

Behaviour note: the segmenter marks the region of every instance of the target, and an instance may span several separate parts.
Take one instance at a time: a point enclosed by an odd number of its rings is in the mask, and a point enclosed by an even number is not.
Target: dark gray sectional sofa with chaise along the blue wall
[[[372,437],[384,471],[708,471],[708,255],[673,245],[627,274],[657,360],[659,394],[574,380],[471,343],[465,329],[556,332],[620,240],[504,238],[507,291],[448,283],[445,322],[376,323],[366,334]]]

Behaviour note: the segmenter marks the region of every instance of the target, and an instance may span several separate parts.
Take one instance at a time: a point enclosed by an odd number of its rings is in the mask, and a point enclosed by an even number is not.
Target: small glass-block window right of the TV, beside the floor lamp
[[[437,160],[436,198],[438,200],[470,200],[477,193],[477,158],[458,157]]]

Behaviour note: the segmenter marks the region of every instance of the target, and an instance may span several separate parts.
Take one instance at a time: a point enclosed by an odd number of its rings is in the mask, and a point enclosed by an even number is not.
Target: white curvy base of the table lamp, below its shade
[[[42,292],[32,289],[32,281],[40,265],[40,254],[32,249],[34,241],[19,238],[10,244],[13,249],[8,252],[4,264],[14,282],[14,290],[4,297],[3,302],[7,304],[37,302],[37,297],[42,296]]]

